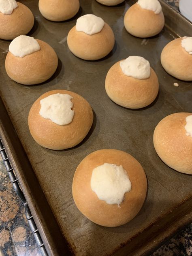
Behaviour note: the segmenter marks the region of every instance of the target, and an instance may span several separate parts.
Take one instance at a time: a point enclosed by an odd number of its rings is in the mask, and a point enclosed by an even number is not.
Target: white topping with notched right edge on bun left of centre
[[[40,100],[41,109],[39,114],[45,119],[51,119],[55,124],[70,124],[75,112],[72,110],[73,97],[68,94],[52,94]]]

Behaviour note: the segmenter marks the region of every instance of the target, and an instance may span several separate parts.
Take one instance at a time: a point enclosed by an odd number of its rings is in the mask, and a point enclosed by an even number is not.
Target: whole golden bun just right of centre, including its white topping
[[[121,64],[124,65],[121,67]],[[105,90],[109,98],[118,105],[139,109],[155,100],[159,83],[147,60],[139,56],[130,56],[109,69],[105,79]]]

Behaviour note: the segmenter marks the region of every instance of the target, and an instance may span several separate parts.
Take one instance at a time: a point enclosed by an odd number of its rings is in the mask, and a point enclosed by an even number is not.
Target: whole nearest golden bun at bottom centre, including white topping
[[[145,201],[147,180],[139,162],[116,149],[101,149],[86,156],[73,178],[73,199],[92,222],[115,227],[126,224]]]

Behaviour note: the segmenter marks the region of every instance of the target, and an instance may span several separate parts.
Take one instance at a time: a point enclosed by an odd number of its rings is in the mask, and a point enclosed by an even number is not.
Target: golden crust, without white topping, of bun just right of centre
[[[150,77],[136,79],[124,75],[120,61],[115,63],[105,78],[105,90],[111,100],[122,107],[140,109],[151,104],[159,91],[159,82],[152,68]]]

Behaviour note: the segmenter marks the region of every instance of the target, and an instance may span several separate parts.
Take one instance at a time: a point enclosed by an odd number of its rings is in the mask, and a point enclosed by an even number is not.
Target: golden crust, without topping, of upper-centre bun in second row
[[[115,36],[107,23],[93,35],[78,32],[74,26],[68,33],[67,44],[75,56],[83,60],[99,60],[113,49]]]

